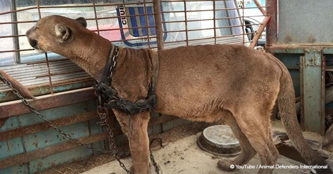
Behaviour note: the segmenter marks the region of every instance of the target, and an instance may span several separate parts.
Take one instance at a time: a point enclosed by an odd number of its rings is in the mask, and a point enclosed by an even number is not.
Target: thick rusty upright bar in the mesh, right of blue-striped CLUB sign
[[[214,0],[215,1],[215,0]],[[154,19],[156,26],[156,40],[157,40],[157,50],[164,50],[164,40],[163,40],[163,24],[162,24],[162,13],[161,13],[161,3],[160,0],[154,1]]]

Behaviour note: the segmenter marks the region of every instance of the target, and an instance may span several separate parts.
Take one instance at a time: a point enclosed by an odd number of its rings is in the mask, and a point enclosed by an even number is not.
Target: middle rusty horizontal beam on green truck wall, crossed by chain
[[[79,123],[83,121],[88,121],[94,118],[98,118],[98,114],[96,111],[87,112],[84,114],[77,114],[70,117],[60,118],[57,120],[52,120],[51,122],[58,127],[70,125],[74,123]],[[38,123],[34,125],[18,127],[15,129],[7,130],[4,132],[0,132],[0,141],[9,140],[15,137],[22,137],[28,134],[37,133],[40,131],[51,129],[52,127],[48,125],[46,122]]]

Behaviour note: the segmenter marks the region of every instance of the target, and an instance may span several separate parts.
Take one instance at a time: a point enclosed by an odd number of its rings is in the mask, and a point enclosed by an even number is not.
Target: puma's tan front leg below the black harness
[[[146,174],[150,172],[150,154],[148,138],[149,112],[141,112],[131,116],[132,132],[129,116],[125,113],[115,111],[122,131],[127,135],[130,144],[133,168],[135,174]]]

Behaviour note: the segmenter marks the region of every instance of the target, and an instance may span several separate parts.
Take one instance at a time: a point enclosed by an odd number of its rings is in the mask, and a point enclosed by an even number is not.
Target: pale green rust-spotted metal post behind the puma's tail
[[[306,130],[325,132],[325,57],[323,50],[306,49],[301,65],[301,123]]]

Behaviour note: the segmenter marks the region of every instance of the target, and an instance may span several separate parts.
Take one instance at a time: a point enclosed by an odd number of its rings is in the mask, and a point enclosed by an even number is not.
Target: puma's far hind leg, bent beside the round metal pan
[[[233,133],[238,139],[242,151],[233,161],[228,159],[219,160],[217,166],[223,171],[234,171],[236,169],[236,165],[243,165],[246,164],[249,160],[251,160],[256,155],[256,151],[248,142],[246,136],[242,133],[242,130],[238,126],[232,113],[225,113],[226,114],[223,113],[224,121],[233,130]],[[230,168],[231,165],[234,165],[234,167]]]

